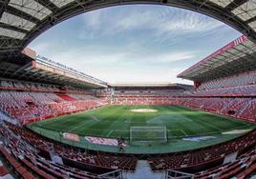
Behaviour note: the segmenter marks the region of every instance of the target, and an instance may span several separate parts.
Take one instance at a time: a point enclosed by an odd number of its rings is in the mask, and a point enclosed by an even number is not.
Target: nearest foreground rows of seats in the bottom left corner
[[[19,138],[8,127],[0,129],[0,134],[8,138],[5,145],[0,145],[0,151],[19,178],[97,178],[96,173],[44,158],[32,144]]]

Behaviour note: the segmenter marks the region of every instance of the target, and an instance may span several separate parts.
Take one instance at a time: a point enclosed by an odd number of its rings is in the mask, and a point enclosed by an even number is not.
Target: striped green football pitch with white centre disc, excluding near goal
[[[81,138],[96,136],[117,139],[122,136],[130,141],[131,127],[166,127],[168,143],[174,144],[189,137],[215,136],[216,139],[209,142],[214,144],[239,136],[237,134],[227,136],[223,132],[254,129],[255,125],[181,106],[117,105],[55,117],[33,123],[29,128],[37,132],[40,129],[40,133],[46,136],[62,131],[78,134]],[[203,142],[205,145],[208,144],[207,141]],[[187,142],[186,145],[189,143]],[[199,147],[201,145],[197,143],[194,148]]]

